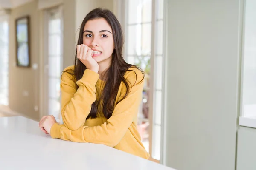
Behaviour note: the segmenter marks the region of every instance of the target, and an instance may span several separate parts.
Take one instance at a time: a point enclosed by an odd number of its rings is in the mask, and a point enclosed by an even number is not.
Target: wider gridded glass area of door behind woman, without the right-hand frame
[[[149,151],[149,94],[152,0],[127,0],[126,59],[145,72],[143,98],[138,113],[138,131]]]

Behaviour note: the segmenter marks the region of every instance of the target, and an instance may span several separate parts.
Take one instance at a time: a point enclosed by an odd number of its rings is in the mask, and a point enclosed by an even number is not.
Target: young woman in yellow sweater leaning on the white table
[[[137,131],[143,71],[122,57],[122,28],[114,14],[96,8],[84,18],[75,65],[61,76],[61,115],[44,116],[39,127],[52,138],[105,144],[145,159]]]

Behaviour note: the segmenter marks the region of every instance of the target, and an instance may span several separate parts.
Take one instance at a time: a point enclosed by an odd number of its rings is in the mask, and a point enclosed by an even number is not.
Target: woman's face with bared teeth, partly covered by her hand
[[[90,47],[96,62],[111,63],[114,50],[113,31],[104,18],[89,20],[84,26],[83,44]]]

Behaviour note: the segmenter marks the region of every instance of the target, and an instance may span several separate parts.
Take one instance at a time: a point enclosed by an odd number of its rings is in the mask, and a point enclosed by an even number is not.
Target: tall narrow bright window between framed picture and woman
[[[63,70],[61,7],[47,11],[47,113],[61,120],[60,76]]]

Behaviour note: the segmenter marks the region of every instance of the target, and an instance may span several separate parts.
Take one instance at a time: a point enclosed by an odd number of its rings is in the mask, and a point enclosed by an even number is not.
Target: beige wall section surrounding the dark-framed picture
[[[39,98],[39,72],[31,68],[16,66],[15,19],[25,15],[30,16],[30,63],[38,63],[39,57],[39,11],[37,1],[12,9],[9,19],[9,107],[32,119],[39,119],[39,113],[34,110]],[[27,96],[23,95],[27,93]]]

